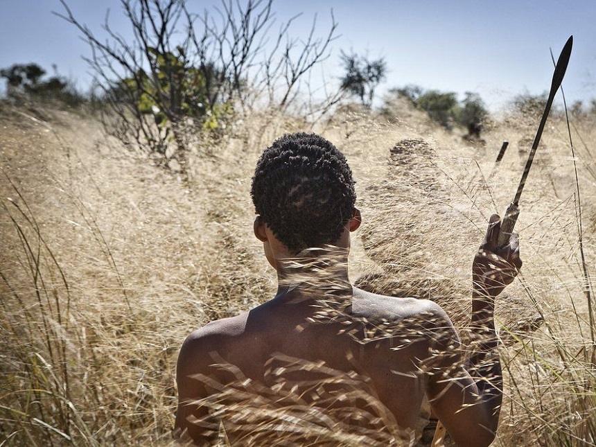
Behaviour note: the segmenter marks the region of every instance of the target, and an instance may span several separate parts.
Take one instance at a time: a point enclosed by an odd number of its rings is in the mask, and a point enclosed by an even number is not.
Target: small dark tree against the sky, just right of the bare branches
[[[365,56],[344,51],[341,52],[340,58],[345,70],[341,78],[342,90],[358,96],[362,105],[371,108],[374,91],[387,75],[387,62],[384,58],[369,60]]]

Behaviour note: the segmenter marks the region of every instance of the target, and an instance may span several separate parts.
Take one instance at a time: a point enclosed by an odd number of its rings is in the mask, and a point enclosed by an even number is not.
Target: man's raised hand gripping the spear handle
[[[519,236],[511,234],[509,245],[498,247],[497,240],[501,220],[493,214],[489,220],[487,235],[472,265],[474,297],[481,298],[484,305],[494,306],[494,298],[517,276],[522,261],[519,256]]]

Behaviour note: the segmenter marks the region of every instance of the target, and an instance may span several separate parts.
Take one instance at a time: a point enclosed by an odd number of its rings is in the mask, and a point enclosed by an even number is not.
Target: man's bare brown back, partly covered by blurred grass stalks
[[[356,288],[348,301],[339,302],[347,306],[327,313],[325,304],[292,290],[193,332],[179,358],[179,388],[189,390],[181,403],[185,397],[214,396],[220,385],[250,383],[256,394],[266,394],[263,405],[267,399],[286,399],[295,407],[292,399],[297,398],[311,409],[327,410],[346,430],[358,427],[357,432],[378,437],[385,436],[380,429],[389,428],[393,433],[379,441],[393,437],[409,444],[426,392],[421,362],[430,356],[430,338],[423,332],[432,329],[437,315],[441,322],[446,317],[432,301]],[[201,376],[189,378],[195,374]],[[207,377],[213,382],[206,385]],[[272,389],[275,398],[269,395]],[[197,439],[204,427],[181,419],[204,419],[213,409],[181,404],[177,426]]]

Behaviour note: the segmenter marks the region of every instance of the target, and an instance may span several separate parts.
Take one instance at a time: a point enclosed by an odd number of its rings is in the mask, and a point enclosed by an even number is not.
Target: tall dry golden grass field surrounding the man
[[[538,123],[509,114],[487,126],[483,146],[405,107],[389,121],[345,109],[315,125],[262,112],[198,141],[184,181],[89,114],[2,105],[0,117],[1,446],[171,443],[186,335],[276,288],[249,187],[261,150],[285,132],[319,132],[351,164],[363,216],[353,281],[435,299],[463,328],[473,254],[514,196]],[[581,250],[593,275],[594,124],[571,117],[581,209],[561,116],[547,123],[520,202],[523,269],[496,311],[497,446],[596,445]]]

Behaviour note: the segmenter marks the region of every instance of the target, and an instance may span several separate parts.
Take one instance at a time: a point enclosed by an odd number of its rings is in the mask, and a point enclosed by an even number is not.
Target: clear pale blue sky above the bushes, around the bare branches
[[[245,0],[240,0],[241,2]],[[101,35],[105,12],[124,36],[129,26],[118,0],[69,0],[80,21]],[[196,12],[219,4],[188,0]],[[541,94],[550,87],[552,62],[570,35],[574,47],[563,82],[568,102],[596,97],[596,0],[274,0],[277,21],[302,12],[290,30],[301,35],[317,14],[321,34],[331,10],[340,37],[325,62],[327,77],[342,73],[340,50],[367,53],[387,61],[391,87],[416,84],[426,89],[475,91],[498,109],[516,94]],[[0,0],[0,68],[36,62],[87,87],[91,80],[82,55],[89,48],[79,33],[51,12],[62,12],[58,0]]]

